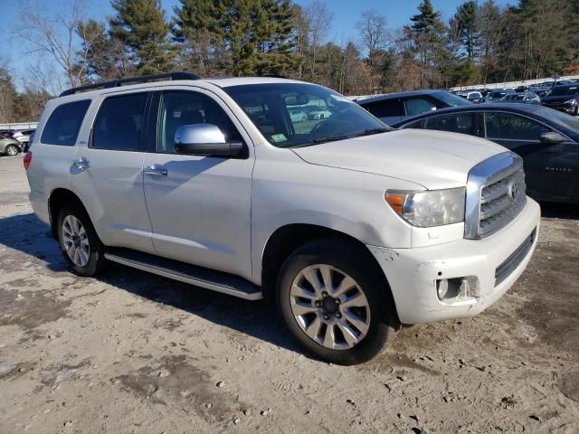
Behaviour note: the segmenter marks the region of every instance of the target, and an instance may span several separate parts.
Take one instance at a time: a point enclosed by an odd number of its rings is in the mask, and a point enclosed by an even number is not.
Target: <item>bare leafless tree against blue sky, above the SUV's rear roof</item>
[[[49,17],[41,5],[24,2],[20,9],[17,35],[30,47],[31,52],[49,56],[64,72],[71,87],[78,86],[84,73],[86,58],[78,46],[76,32],[81,23],[83,0],[71,0],[70,6],[62,7],[68,14]]]

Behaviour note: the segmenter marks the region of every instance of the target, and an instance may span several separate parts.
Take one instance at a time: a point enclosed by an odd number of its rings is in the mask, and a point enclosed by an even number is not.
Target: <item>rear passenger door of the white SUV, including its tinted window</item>
[[[151,93],[101,97],[94,123],[71,167],[72,190],[85,204],[101,240],[109,246],[154,252],[143,194],[145,118]]]

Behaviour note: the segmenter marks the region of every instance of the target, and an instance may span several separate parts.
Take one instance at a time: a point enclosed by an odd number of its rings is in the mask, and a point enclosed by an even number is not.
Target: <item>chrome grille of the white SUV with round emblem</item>
[[[467,184],[465,238],[479,239],[505,227],[527,203],[523,160],[512,152],[473,167]]]

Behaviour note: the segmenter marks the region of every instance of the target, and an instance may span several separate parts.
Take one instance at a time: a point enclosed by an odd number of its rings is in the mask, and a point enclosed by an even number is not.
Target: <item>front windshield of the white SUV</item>
[[[224,88],[278,147],[317,145],[389,131],[355,102],[313,84],[268,83]]]

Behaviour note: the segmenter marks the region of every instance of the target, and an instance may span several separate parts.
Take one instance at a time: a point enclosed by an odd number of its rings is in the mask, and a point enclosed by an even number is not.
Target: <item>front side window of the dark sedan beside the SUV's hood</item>
[[[547,127],[522,116],[508,113],[485,113],[487,138],[539,141]]]

